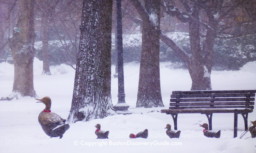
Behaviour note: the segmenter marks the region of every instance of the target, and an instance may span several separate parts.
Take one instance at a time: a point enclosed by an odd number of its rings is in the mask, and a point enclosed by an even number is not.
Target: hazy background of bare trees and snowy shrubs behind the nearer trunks
[[[0,16],[0,47],[4,47],[4,37],[12,35],[12,29],[15,25],[17,19],[17,10],[18,10],[17,0],[1,0],[1,16]],[[40,60],[43,60],[42,52],[42,37],[43,37],[43,26],[42,26],[42,6],[46,1],[36,1],[36,14],[35,14],[35,31],[36,31],[36,57]],[[51,2],[51,1],[49,1]],[[53,2],[55,2],[53,4]],[[113,1],[115,3],[115,0]],[[144,1],[141,1],[144,3]],[[167,6],[175,6],[180,11],[187,12],[180,0],[162,0],[166,3]],[[214,2],[214,1],[213,1]],[[212,3],[213,3],[212,2]],[[223,11],[228,11],[228,7],[231,8],[236,3],[235,0],[223,1]],[[215,45],[214,45],[214,60],[213,60],[213,69],[238,69],[245,62],[253,61],[255,56],[251,56],[251,53],[255,52],[255,49],[247,50],[247,45],[253,45],[254,42],[251,38],[255,34],[255,1],[245,0],[241,1],[243,3],[237,5],[225,18],[220,20],[220,23],[229,25],[229,29],[222,28],[222,31],[225,35],[224,39],[220,39],[217,36]],[[78,53],[78,44],[79,44],[79,25],[81,21],[81,10],[82,10],[82,0],[58,0],[52,1],[52,5],[49,5],[49,16],[48,19],[51,19],[51,24],[48,24],[49,29],[49,61],[50,65],[56,65],[65,63],[70,66],[74,66],[76,63],[76,56]],[[193,6],[193,1],[187,1],[188,6]],[[231,5],[232,4],[232,5]],[[228,7],[225,7],[228,5]],[[137,10],[133,7],[130,0],[122,0],[122,9],[123,9],[123,33],[124,33],[124,62],[137,61],[140,62],[140,51],[141,51],[141,33],[142,22],[140,15]],[[209,5],[210,7],[211,5]],[[217,5],[216,5],[217,6]],[[113,10],[115,11],[116,6],[113,5]],[[160,29],[163,33],[169,32],[189,32],[188,22],[181,22],[175,16],[170,16],[166,11],[166,7],[161,5],[160,13]],[[208,8],[209,8],[208,7]],[[205,14],[206,8],[200,11],[200,21],[207,23],[208,17]],[[116,14],[113,13],[112,17],[113,27],[112,33],[115,33],[115,24],[116,24]],[[200,34],[201,34],[201,44],[205,40],[205,31],[207,31],[205,24],[200,25]],[[237,30],[241,29],[241,30]],[[248,36],[237,34],[241,33],[250,34],[250,39]],[[138,34],[138,35],[135,35]],[[219,33],[218,33],[219,34]],[[234,36],[228,36],[232,34]],[[188,35],[188,34],[187,34]],[[130,41],[131,37],[133,41]],[[229,38],[230,37],[230,38]],[[237,38],[237,39],[236,39]],[[248,38],[248,39],[247,39]],[[115,49],[115,37],[112,37],[112,63],[115,63],[116,53],[113,52]],[[249,40],[249,41],[247,41]],[[246,43],[241,43],[241,42]],[[176,41],[179,46],[186,51],[188,54],[191,53],[191,47],[189,40]],[[229,43],[230,45],[223,45]],[[241,43],[241,44],[239,44]],[[232,45],[231,45],[232,44]],[[241,45],[242,53],[238,53],[239,48],[237,46]],[[202,46],[201,46],[202,47]],[[248,48],[248,46],[247,46]],[[0,49],[0,58],[4,59],[4,50]],[[247,58],[243,58],[246,56]],[[227,59],[228,60],[223,60]],[[185,64],[184,60],[180,58],[173,49],[169,48],[162,41],[160,41],[160,62],[161,61],[172,61],[180,64]],[[236,62],[235,62],[236,61]],[[186,64],[183,67],[187,67]]]

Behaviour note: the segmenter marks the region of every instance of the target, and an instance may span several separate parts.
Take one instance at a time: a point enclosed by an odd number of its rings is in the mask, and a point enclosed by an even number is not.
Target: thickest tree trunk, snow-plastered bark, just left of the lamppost
[[[79,53],[68,120],[115,114],[111,101],[112,0],[84,0]]]

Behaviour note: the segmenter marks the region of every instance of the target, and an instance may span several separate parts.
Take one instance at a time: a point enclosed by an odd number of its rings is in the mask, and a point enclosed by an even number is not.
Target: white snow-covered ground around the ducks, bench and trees
[[[131,115],[114,115],[104,119],[70,124],[62,139],[47,136],[38,123],[38,115],[44,104],[36,103],[30,97],[12,101],[0,101],[0,152],[189,152],[189,153],[256,153],[256,138],[248,138],[244,132],[244,120],[238,115],[238,137],[233,138],[234,114],[213,114],[213,130],[221,129],[221,136],[207,138],[199,124],[208,123],[203,114],[179,114],[178,129],[180,138],[170,139],[164,129],[166,124],[173,126],[171,115],[160,113],[168,109],[172,91],[190,90],[191,79],[188,70],[173,69],[169,62],[160,63],[161,90],[165,107],[135,108],[139,63],[124,64],[125,101],[130,105]],[[41,76],[43,63],[34,60],[34,88],[39,98],[52,99],[52,112],[67,118],[71,106],[75,70],[64,64],[52,66],[52,76]],[[0,97],[12,91],[13,65],[0,63]],[[112,74],[115,67],[112,66]],[[255,90],[256,61],[249,62],[239,71],[213,71],[213,90]],[[114,105],[117,103],[117,78],[112,77],[111,94]],[[255,111],[249,113],[248,120],[256,120]],[[109,139],[96,139],[95,125],[109,130]],[[250,125],[250,123],[249,123]],[[130,139],[130,133],[148,129],[148,139]],[[93,143],[93,146],[92,146]],[[169,143],[169,145],[167,145]],[[90,146],[89,146],[90,145]]]

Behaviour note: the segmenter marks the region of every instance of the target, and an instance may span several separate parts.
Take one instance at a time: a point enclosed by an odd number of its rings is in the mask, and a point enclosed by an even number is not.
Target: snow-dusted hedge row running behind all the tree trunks
[[[168,37],[174,40],[183,50],[191,54],[189,33],[173,32],[165,33]],[[201,39],[201,44],[204,38]],[[123,35],[123,57],[124,62],[140,62],[141,53],[141,33],[138,34],[125,34]],[[66,44],[68,48],[64,48],[62,44]],[[49,41],[50,61],[51,65],[59,65],[65,61],[73,61],[72,65],[76,62],[76,54],[74,47],[70,41],[66,43],[52,40]],[[256,34],[246,35],[239,38],[232,39],[216,39],[214,45],[214,63],[213,69],[217,70],[238,70],[245,63],[256,61]],[[35,43],[37,50],[36,57],[43,60],[42,57],[42,42]],[[67,50],[69,50],[67,52]],[[111,62],[116,65],[117,52],[115,44],[115,34],[112,34],[112,51]],[[160,40],[160,62],[173,62],[183,67],[186,67],[184,61],[166,44]],[[67,62],[66,62],[67,63]]]

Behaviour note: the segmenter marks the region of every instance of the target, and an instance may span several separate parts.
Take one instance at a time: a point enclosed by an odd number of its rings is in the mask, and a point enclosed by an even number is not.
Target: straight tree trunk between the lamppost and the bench
[[[159,68],[160,0],[145,0],[145,9],[148,15],[141,16],[142,50],[136,107],[163,107]]]

